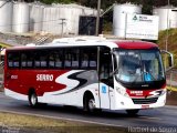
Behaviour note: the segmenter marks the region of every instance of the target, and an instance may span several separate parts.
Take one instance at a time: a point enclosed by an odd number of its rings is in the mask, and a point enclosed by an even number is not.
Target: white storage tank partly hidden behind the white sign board
[[[124,3],[124,4],[115,4],[113,8],[113,34],[118,38],[125,38],[126,30],[126,16],[128,13],[142,13],[142,7]]]

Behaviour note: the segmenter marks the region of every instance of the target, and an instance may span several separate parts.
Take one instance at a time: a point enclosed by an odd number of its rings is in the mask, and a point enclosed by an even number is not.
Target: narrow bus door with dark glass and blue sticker
[[[108,48],[100,49],[100,99],[102,109],[111,109],[111,89],[113,88],[112,55]]]

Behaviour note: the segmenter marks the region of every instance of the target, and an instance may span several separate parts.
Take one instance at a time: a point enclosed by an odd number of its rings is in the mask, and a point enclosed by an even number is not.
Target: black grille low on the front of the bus
[[[135,104],[150,104],[156,103],[158,98],[149,98],[149,99],[132,99]]]

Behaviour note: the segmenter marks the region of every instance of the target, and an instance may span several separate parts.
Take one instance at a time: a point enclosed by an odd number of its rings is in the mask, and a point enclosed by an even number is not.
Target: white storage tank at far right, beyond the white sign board
[[[159,30],[177,28],[177,11],[173,10],[175,7],[170,6],[154,8],[153,14],[159,17]]]

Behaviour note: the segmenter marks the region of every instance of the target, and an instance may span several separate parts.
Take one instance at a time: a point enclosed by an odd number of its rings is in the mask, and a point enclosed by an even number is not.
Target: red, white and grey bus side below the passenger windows
[[[14,99],[28,100],[29,90],[34,89],[39,102],[83,106],[83,95],[90,91],[100,108],[94,70],[8,70],[8,73],[6,94]]]

